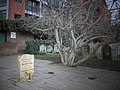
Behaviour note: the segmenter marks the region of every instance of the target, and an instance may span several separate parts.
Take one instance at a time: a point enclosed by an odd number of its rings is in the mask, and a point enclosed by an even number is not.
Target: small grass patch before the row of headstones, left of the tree
[[[48,61],[53,61],[53,62],[59,62],[60,55],[58,53],[47,53],[44,55],[35,55],[36,59],[41,59],[41,60],[48,60]]]

